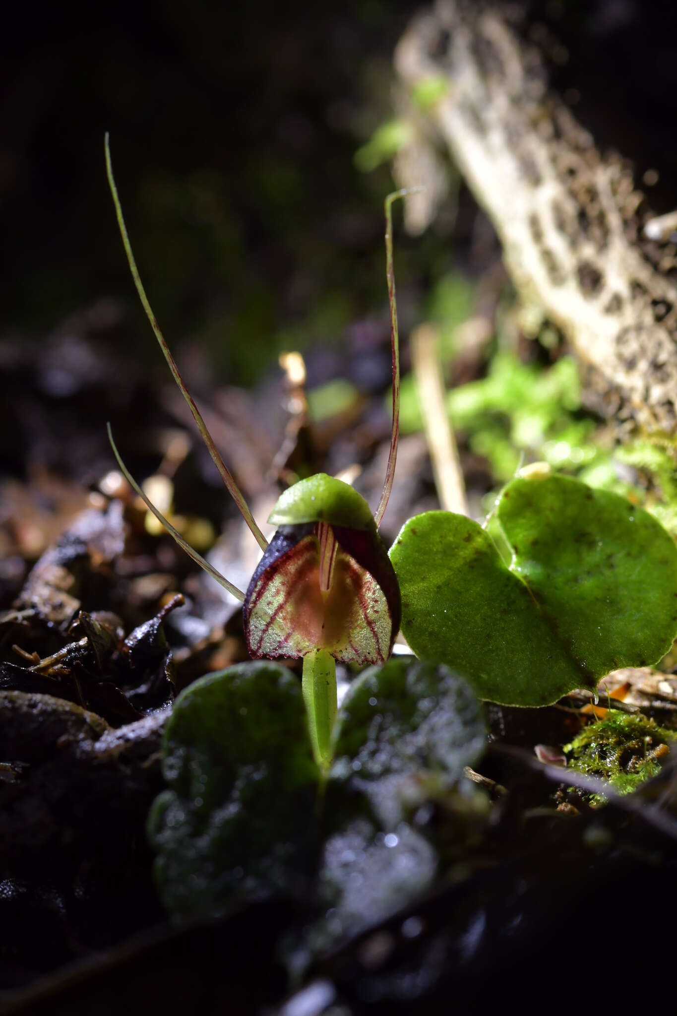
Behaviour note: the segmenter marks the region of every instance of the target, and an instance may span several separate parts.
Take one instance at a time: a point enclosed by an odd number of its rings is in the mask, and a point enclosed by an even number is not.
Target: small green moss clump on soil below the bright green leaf
[[[659,726],[653,719],[610,710],[564,745],[564,753],[571,769],[608,780],[619,793],[631,793],[657,775],[669,743],[676,739],[676,731]],[[604,799],[594,795],[593,801],[602,804]]]

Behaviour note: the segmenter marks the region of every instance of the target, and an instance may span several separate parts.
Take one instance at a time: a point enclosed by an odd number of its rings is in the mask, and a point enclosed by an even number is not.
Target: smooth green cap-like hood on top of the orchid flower
[[[326,472],[289,487],[278,499],[268,521],[272,525],[329,522],[350,529],[376,529],[374,516],[361,494]]]

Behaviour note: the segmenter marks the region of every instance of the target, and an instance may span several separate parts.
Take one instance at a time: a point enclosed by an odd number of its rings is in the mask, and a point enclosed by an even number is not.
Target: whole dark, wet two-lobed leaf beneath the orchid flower
[[[330,911],[318,925],[327,942],[429,887],[437,850],[414,815],[447,800],[482,751],[472,692],[445,666],[392,659],[354,682],[334,744],[323,783],[300,685],[274,663],[209,675],[179,697],[164,738],[170,789],[149,819],[172,912],[283,891]]]

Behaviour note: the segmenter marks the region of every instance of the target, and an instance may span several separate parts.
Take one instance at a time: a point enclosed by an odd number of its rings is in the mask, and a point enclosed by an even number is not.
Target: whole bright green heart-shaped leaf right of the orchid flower
[[[564,477],[518,478],[497,508],[500,560],[463,516],[410,519],[391,549],[417,655],[492,701],[545,705],[656,662],[677,631],[677,549],[648,512]]]

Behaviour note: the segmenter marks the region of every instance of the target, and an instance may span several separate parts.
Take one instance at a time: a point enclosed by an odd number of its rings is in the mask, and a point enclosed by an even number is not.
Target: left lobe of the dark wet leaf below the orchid
[[[214,913],[302,883],[319,774],[286,669],[246,663],[191,685],[166,726],[163,773],[148,828],[168,909]]]

